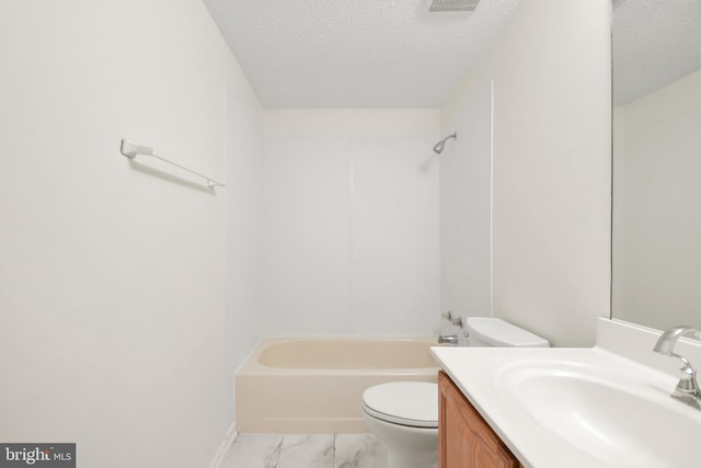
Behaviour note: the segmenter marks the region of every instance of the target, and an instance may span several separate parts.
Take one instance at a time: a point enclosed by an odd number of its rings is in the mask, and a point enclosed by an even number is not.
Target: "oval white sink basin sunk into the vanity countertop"
[[[601,465],[699,466],[701,411],[671,399],[666,376],[539,359],[505,364],[494,379],[533,429]]]

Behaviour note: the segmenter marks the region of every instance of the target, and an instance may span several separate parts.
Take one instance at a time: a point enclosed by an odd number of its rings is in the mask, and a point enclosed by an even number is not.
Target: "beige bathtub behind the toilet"
[[[436,381],[422,338],[265,338],[235,375],[242,433],[358,433],[363,391],[397,380]]]

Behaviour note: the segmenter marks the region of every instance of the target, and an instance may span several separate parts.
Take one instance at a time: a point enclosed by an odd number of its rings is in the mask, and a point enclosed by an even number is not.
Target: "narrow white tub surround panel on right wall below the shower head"
[[[487,83],[445,134],[458,132],[440,155],[440,308],[457,317],[492,315],[492,84]],[[448,322],[444,322],[444,326]],[[459,330],[445,328],[445,333]]]

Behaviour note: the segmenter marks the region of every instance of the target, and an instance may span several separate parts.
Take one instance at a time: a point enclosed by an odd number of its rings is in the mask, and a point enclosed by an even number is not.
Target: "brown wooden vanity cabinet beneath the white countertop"
[[[443,370],[438,395],[439,468],[522,468]]]

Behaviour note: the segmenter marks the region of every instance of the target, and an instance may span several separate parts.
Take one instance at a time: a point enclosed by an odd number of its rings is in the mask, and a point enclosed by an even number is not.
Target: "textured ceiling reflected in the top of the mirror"
[[[625,104],[701,68],[701,0],[613,2],[613,101]]]

